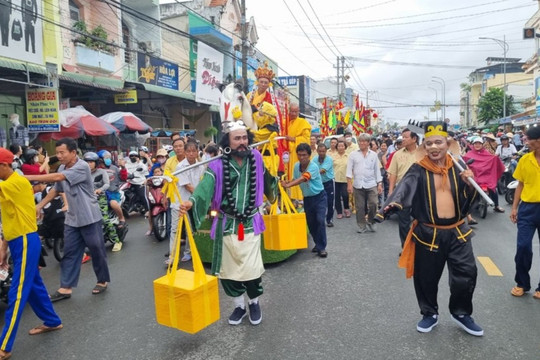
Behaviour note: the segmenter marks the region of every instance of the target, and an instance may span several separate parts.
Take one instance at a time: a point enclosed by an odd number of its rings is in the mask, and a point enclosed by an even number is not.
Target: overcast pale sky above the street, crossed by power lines
[[[335,78],[336,56],[349,57],[347,86],[364,103],[369,91],[369,104],[390,123],[428,115],[435,100],[429,87],[442,95],[432,76],[445,80],[446,116],[457,123],[459,84],[487,57],[503,56],[495,41],[479,37],[506,36],[508,57],[527,60],[535,52],[534,40],[522,40],[538,9],[534,0],[246,0],[246,6],[257,24],[256,46],[277,61],[280,76]]]

